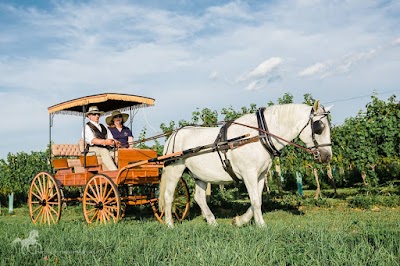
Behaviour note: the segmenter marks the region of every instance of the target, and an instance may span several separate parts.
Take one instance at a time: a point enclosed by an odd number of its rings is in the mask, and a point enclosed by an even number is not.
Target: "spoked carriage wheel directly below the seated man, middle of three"
[[[93,176],[83,192],[83,215],[86,222],[118,222],[121,215],[121,199],[115,183],[106,175]]]

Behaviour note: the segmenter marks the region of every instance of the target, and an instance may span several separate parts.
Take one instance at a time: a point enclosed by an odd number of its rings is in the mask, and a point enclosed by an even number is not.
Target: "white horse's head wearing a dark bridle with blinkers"
[[[331,107],[324,108],[316,101],[307,124],[300,131],[300,139],[313,152],[317,163],[328,163],[332,159],[331,127],[328,120]]]

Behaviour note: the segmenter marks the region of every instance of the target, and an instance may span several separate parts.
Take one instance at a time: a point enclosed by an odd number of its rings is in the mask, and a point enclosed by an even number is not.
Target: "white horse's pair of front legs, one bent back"
[[[264,226],[264,218],[262,217],[262,211],[261,211],[261,204],[262,204],[262,192],[264,190],[264,180],[265,175],[262,174],[258,178],[258,182],[253,181],[245,181],[245,185],[247,188],[247,191],[249,193],[249,198],[250,198],[250,203],[251,206],[247,209],[247,211],[241,215],[241,216],[236,216],[233,218],[233,224],[236,226],[242,226],[244,224],[247,224],[251,218],[254,216],[254,220],[258,226]],[[248,179],[245,179],[248,180]],[[253,183],[256,183],[254,185]],[[251,185],[253,184],[253,185]]]

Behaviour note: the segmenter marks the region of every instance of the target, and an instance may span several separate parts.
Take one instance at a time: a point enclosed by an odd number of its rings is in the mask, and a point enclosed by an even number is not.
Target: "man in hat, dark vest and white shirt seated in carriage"
[[[85,126],[85,143],[89,145],[89,151],[100,155],[103,160],[103,164],[108,168],[108,170],[117,170],[114,160],[111,157],[111,153],[108,147],[114,145],[120,145],[119,141],[114,140],[113,135],[110,130],[108,130],[104,125],[99,123],[100,116],[103,114],[97,106],[90,106],[86,113],[89,118],[89,122]]]

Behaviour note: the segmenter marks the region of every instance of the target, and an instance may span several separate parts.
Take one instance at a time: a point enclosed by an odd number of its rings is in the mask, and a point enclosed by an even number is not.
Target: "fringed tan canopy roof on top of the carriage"
[[[154,99],[131,94],[103,93],[62,102],[47,109],[49,114],[83,115],[83,106],[87,111],[92,105],[97,106],[104,114],[110,114],[115,110],[127,111],[153,106]]]

